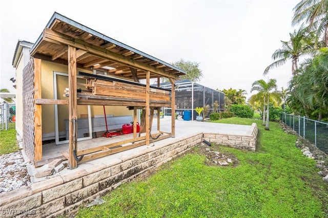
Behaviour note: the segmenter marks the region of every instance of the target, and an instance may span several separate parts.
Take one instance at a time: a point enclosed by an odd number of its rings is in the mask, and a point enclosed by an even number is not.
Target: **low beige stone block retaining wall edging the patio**
[[[256,136],[255,124],[247,136],[199,133],[171,144],[148,147],[136,152],[132,157],[113,158],[88,168],[77,168],[71,173],[1,194],[0,211],[2,217],[57,217],[68,214],[83,204],[103,197],[140,173],[183,154],[199,144],[202,138],[232,147],[255,150]]]

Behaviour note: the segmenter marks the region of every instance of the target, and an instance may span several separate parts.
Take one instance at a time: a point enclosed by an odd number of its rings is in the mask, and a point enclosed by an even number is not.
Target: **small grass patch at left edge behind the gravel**
[[[0,130],[0,155],[6,155],[18,149],[15,123],[9,123],[8,130]]]

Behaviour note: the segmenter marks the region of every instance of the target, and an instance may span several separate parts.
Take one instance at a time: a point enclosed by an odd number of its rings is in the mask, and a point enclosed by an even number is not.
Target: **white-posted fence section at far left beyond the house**
[[[4,102],[0,104],[0,129],[8,130],[9,123],[16,121],[16,104]]]

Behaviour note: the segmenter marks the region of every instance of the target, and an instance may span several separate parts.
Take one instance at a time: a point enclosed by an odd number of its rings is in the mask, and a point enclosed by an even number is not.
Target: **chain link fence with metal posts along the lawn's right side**
[[[280,118],[299,136],[309,140],[325,154],[328,154],[328,123],[284,113]]]

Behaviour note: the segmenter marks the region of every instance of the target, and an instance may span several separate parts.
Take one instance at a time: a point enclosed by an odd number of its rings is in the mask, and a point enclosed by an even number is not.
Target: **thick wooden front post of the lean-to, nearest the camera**
[[[77,167],[77,161],[74,158],[73,150],[77,151],[77,102],[76,102],[76,48],[68,46],[68,86],[70,95],[68,98],[68,111],[69,111],[69,159],[68,165],[70,169]],[[75,127],[74,127],[75,124]],[[75,132],[73,130],[75,129]]]

